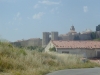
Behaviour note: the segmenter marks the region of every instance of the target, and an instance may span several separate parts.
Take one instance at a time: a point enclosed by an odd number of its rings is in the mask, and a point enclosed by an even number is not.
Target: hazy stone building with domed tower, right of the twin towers
[[[67,34],[59,35],[59,40],[91,40],[91,30],[85,30],[82,33],[77,33],[74,26],[71,26]]]

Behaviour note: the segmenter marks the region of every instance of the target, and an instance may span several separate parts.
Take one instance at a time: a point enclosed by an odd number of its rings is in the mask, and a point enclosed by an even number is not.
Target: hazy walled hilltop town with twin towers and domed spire
[[[51,37],[50,37],[51,36]],[[96,38],[100,38],[100,24],[96,26],[96,30],[88,30],[86,29],[84,32],[76,32],[75,27],[72,25],[70,31],[66,34],[60,34],[58,32],[43,32],[41,38],[31,38],[28,40],[18,40],[15,42],[11,42],[16,46],[40,46],[46,47],[50,40],[94,40]]]

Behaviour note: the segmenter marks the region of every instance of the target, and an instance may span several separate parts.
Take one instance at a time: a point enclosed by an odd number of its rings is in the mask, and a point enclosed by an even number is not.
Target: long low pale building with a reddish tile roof
[[[99,41],[50,41],[45,52],[53,47],[58,53],[78,54],[87,58],[100,57]]]

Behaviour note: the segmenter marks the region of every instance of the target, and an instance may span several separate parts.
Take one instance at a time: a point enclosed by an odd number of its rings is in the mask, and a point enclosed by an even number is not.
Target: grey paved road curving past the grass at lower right
[[[100,75],[100,68],[60,70],[47,75]]]

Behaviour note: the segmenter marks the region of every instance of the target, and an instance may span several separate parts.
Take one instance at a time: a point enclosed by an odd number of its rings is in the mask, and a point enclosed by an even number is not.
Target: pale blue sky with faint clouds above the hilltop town
[[[100,24],[100,0],[0,0],[0,38],[42,38],[42,32],[66,34]]]

